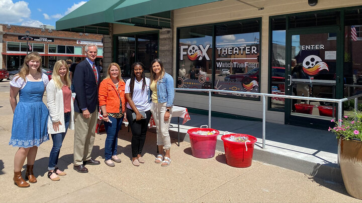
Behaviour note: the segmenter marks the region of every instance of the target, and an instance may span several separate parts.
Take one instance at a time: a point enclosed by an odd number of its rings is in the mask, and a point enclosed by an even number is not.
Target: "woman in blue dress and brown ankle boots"
[[[42,59],[37,52],[29,53],[19,74],[10,82],[10,104],[14,112],[12,136],[9,145],[19,147],[14,157],[14,184],[29,187],[21,174],[27,159],[25,178],[37,182],[33,166],[38,146],[49,140],[47,132],[48,109],[43,103],[43,94],[49,82],[40,70]],[[19,94],[19,102],[17,95]]]

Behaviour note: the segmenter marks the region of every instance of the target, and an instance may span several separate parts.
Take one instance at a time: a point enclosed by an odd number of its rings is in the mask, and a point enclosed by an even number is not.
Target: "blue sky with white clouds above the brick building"
[[[88,0],[0,0],[0,24],[55,27],[55,22]]]

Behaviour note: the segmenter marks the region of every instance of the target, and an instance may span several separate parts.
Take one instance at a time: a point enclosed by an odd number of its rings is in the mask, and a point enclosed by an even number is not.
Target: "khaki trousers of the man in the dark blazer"
[[[98,111],[91,113],[89,118],[84,118],[82,113],[74,112],[74,166],[91,159],[97,117]]]

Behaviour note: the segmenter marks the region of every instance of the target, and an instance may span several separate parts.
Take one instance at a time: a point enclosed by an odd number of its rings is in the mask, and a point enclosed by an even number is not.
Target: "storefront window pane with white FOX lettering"
[[[178,31],[177,87],[213,89],[213,27],[180,28]]]

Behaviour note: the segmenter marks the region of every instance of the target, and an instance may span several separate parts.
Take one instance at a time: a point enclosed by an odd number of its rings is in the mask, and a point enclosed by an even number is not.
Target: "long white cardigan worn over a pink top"
[[[47,105],[49,108],[48,133],[56,134],[60,132],[65,132],[63,91],[55,86],[53,80],[49,81],[46,90]],[[70,107],[71,113],[69,120],[69,129],[74,130],[74,106],[72,97],[70,97]],[[62,124],[59,125],[59,131],[55,132],[53,129],[53,122],[58,121],[60,121]]]

